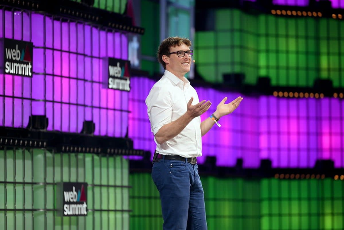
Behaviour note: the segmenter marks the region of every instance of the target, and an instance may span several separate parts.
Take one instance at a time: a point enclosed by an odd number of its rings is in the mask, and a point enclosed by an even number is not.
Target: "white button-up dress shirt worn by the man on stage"
[[[195,117],[180,134],[159,144],[155,134],[187,111],[187,103],[193,97],[192,105],[199,103],[196,90],[184,77],[185,83],[171,72],[165,70],[164,76],[153,85],[146,98],[148,117],[157,152],[162,155],[179,155],[182,157],[202,156],[201,117]]]

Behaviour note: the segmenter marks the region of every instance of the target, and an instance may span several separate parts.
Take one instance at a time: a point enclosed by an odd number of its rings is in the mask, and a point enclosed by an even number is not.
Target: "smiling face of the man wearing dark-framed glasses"
[[[189,46],[182,43],[180,46],[170,47],[170,53],[177,51],[189,51]],[[170,56],[166,56],[166,70],[170,71],[177,77],[182,77],[184,74],[190,71],[191,56],[185,53],[183,57],[179,57],[177,53],[172,53]]]

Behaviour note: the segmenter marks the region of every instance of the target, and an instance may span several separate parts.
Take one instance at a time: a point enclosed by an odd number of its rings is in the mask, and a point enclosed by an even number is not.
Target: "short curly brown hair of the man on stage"
[[[157,53],[157,57],[159,62],[162,64],[162,66],[164,67],[164,69],[166,70],[166,63],[162,60],[162,56],[166,55],[169,56],[170,54],[170,47],[174,47],[174,46],[180,46],[181,44],[185,44],[187,46],[191,46],[191,41],[190,39],[187,38],[181,38],[181,37],[169,37],[169,38],[165,38],[158,49],[158,53]]]

